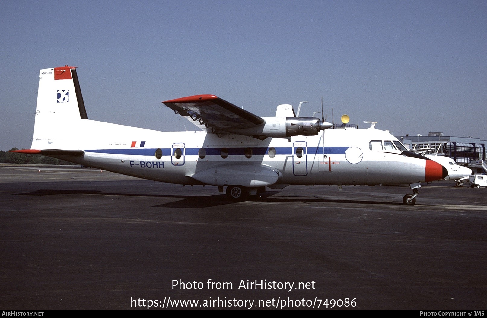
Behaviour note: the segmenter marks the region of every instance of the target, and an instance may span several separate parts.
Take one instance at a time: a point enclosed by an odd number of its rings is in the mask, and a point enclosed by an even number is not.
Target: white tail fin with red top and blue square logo
[[[56,138],[62,137],[88,119],[76,68],[55,67],[40,70],[36,120],[31,149],[50,149]]]

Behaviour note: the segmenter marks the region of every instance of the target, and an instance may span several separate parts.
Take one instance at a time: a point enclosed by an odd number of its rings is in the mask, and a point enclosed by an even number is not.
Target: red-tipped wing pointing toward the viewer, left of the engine
[[[194,95],[163,103],[175,113],[199,123],[198,127],[212,133],[229,133],[265,123],[263,118],[215,95]]]

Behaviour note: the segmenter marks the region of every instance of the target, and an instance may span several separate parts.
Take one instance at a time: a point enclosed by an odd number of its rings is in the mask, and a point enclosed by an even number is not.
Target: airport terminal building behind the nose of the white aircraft
[[[411,150],[433,148],[430,153],[448,156],[459,165],[471,168],[473,173],[484,172],[487,140],[474,137],[444,136],[442,132],[430,132],[428,136],[396,136]]]

